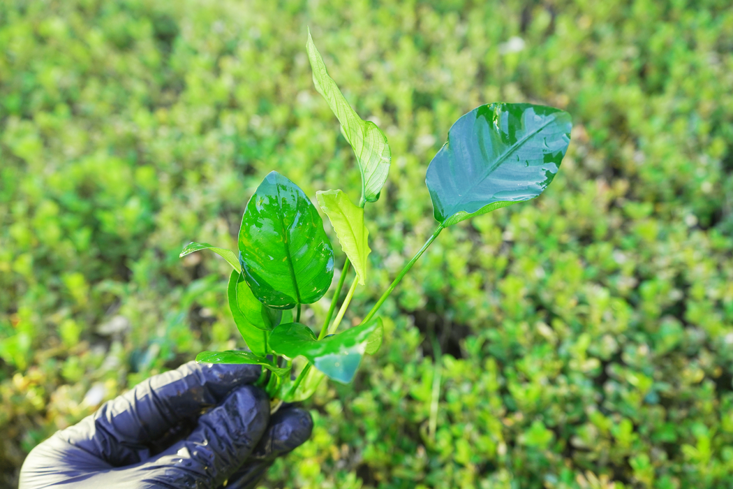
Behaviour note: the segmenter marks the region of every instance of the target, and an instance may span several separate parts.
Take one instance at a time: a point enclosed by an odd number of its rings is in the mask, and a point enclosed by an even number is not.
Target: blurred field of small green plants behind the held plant
[[[432,232],[457,117],[528,101],[575,127],[539,199],[443,232],[263,485],[733,487],[729,0],[0,1],[0,485],[100,402],[241,345],[229,265],[178,253],[234,249],[267,172],[357,199],[306,26],[394,155],[353,322]]]

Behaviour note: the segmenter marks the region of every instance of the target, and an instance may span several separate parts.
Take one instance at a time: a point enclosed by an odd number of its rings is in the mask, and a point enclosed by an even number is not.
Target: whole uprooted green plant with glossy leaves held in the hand
[[[258,364],[261,383],[273,410],[280,402],[305,400],[325,375],[350,382],[365,353],[382,342],[382,321],[375,316],[421,254],[446,227],[542,194],[557,173],[570,143],[567,112],[529,103],[490,103],[460,117],[448,141],[432,158],[425,179],[438,227],[356,327],[337,332],[358,285],[367,281],[369,231],[364,205],[375,202],[387,179],[391,151],[383,131],[362,120],[326,72],[308,34],[306,50],[313,83],[341,123],[356,153],[361,197],[354,204],[341,190],[319,191],[346,254],[331,307],[319,334],[301,323],[301,308],[325,295],[334,277],[334,247],[311,199],[278,172],[271,172],[251,196],[242,216],[238,253],[206,243],[191,243],[180,254],[209,249],[229,262],[227,296],[237,328],[249,351],[205,351],[196,361]],[[347,272],[355,276],[336,312]],[[295,309],[293,318],[292,309]],[[293,360],[302,367],[294,367]],[[294,375],[294,369],[298,375]],[[266,375],[270,372],[270,375]]]

